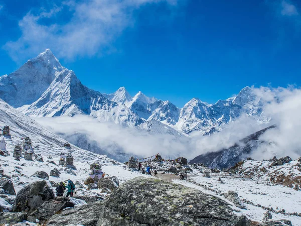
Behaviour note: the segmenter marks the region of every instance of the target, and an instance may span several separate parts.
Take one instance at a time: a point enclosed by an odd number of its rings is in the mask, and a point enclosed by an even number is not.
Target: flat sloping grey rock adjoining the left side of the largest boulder
[[[53,215],[46,225],[65,226],[65,225],[85,225],[95,226],[103,212],[102,201],[91,202],[81,206],[66,209],[60,214]]]

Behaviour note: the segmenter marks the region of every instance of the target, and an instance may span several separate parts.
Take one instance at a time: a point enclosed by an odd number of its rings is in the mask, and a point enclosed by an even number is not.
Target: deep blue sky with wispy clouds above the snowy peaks
[[[300,1],[0,0],[0,74],[50,48],[89,88],[209,103],[301,85]]]

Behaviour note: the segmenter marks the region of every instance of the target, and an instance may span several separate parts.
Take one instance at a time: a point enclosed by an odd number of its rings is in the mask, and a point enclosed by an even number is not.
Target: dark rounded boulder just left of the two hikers
[[[31,213],[35,211],[45,201],[55,197],[51,185],[45,180],[33,182],[22,188],[13,205],[14,212],[25,211]]]

